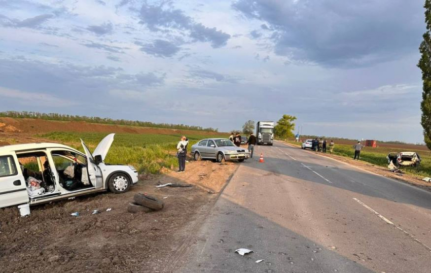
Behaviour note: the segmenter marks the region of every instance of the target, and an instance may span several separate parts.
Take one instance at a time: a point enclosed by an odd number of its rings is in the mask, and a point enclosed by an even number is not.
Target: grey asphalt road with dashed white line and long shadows
[[[257,146],[193,237],[176,272],[429,273],[431,193],[310,151]]]

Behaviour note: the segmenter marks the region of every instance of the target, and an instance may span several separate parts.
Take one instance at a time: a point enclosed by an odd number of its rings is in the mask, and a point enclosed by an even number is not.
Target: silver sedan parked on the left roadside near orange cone
[[[235,146],[229,139],[204,139],[192,146],[191,154],[195,160],[215,159],[217,162],[239,161],[250,157],[250,152]]]

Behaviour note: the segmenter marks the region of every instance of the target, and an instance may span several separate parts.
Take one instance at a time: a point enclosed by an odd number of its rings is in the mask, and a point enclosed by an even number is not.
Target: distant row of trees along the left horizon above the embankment
[[[78,115],[65,115],[65,114],[58,114],[58,113],[6,111],[6,112],[0,112],[0,117],[32,118],[32,119],[59,120],[59,121],[85,121],[85,122],[100,123],[100,124],[129,125],[129,126],[139,126],[139,127],[167,128],[167,129],[193,130],[193,131],[210,131],[210,132],[219,131],[218,128],[212,128],[212,127],[203,128],[201,126],[192,126],[192,125],[185,125],[185,124],[153,123],[150,121],[111,119],[111,118],[88,117],[88,116],[78,116]]]

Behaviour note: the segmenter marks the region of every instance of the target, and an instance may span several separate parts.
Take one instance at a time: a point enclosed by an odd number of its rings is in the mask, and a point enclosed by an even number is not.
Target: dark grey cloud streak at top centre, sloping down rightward
[[[139,23],[146,25],[151,31],[169,29],[188,31],[192,42],[209,42],[213,48],[225,46],[231,37],[228,33],[217,30],[215,27],[210,28],[196,23],[182,10],[164,6],[166,6],[165,3],[153,6],[145,1],[139,12]]]

